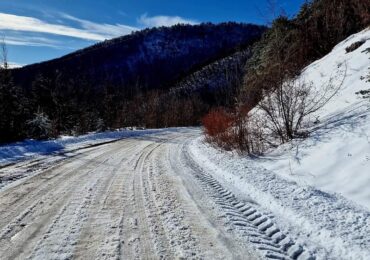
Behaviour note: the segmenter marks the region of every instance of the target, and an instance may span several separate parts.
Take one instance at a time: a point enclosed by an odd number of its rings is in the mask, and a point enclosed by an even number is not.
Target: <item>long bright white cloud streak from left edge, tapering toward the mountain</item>
[[[78,22],[82,28],[52,24],[34,17],[0,13],[0,30],[48,33],[85,40],[102,41],[128,34],[136,29],[121,24],[98,24],[69,15],[64,15],[64,18]]]

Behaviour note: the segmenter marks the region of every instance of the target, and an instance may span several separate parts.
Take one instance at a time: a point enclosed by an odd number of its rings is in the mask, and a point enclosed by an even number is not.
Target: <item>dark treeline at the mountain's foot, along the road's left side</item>
[[[59,82],[41,76],[26,95],[8,70],[0,72],[0,91],[2,142],[127,126],[197,125],[199,115],[209,109],[196,94],[185,97],[151,90],[127,97],[114,86],[92,91],[83,80]]]

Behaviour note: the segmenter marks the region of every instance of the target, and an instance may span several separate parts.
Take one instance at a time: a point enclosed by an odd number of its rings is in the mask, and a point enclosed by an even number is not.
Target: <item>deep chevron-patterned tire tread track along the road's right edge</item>
[[[314,255],[297,244],[274,222],[274,218],[259,209],[258,205],[239,200],[191,158],[186,148],[184,160],[203,189],[225,213],[229,224],[250,242],[267,259],[313,260]]]

